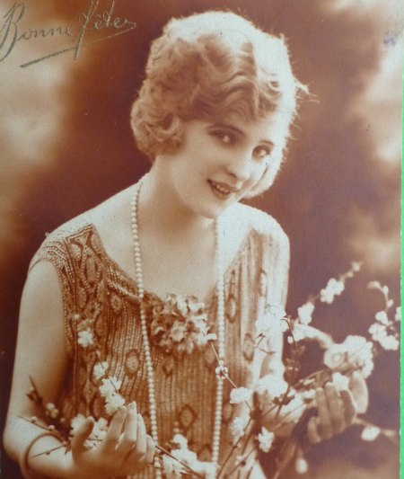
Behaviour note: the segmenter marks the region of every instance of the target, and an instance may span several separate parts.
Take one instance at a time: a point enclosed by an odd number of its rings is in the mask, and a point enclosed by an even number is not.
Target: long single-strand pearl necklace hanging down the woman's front
[[[152,356],[150,353],[150,343],[147,336],[147,318],[145,315],[145,307],[143,306],[143,298],[145,297],[145,286],[143,283],[143,269],[142,269],[142,256],[140,253],[138,224],[137,224],[137,203],[139,198],[140,188],[145,177],[142,178],[136,184],[134,195],[131,201],[131,223],[133,244],[135,253],[135,272],[136,272],[136,286],[137,295],[140,299],[140,326],[142,331],[142,342],[145,350],[145,365],[147,371],[147,386],[149,395],[149,408],[150,408],[150,429],[154,443],[158,444],[159,435],[157,427],[157,407],[155,401],[155,387],[154,387],[154,369]],[[215,261],[217,269],[217,356],[219,369],[224,368],[224,272],[222,265],[222,251],[220,242],[220,226],[219,222],[215,223]],[[224,389],[224,377],[223,375],[216,374],[216,398],[215,398],[215,425],[213,430],[212,439],[212,463],[216,466],[219,461],[220,450],[220,433],[222,429],[222,406],[223,406],[223,389]],[[154,457],[155,477],[160,479],[162,477],[161,464],[158,457]]]

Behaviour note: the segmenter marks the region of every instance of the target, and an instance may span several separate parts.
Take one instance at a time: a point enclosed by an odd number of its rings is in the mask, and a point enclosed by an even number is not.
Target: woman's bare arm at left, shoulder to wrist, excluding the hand
[[[30,377],[40,395],[55,404],[66,367],[63,302],[57,271],[50,262],[39,262],[30,271],[22,292],[13,386],[4,430],[4,448],[13,460],[22,462],[24,451],[43,432],[38,426],[21,419],[38,415],[27,396],[31,389]],[[45,451],[58,444],[56,438],[43,437],[32,446],[30,454],[38,452],[39,448]],[[59,456],[37,457],[30,461],[30,466],[42,474],[60,476],[64,461]]]

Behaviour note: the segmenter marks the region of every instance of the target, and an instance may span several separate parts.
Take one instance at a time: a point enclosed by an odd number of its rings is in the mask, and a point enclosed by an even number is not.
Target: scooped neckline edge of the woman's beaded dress
[[[92,228],[92,232],[97,238],[97,242],[98,242],[98,245],[100,247],[101,254],[104,256],[104,258],[107,260],[107,262],[109,262],[114,267],[114,269],[116,271],[119,271],[119,274],[121,274],[127,280],[127,283],[133,288],[134,292],[137,291],[136,279],[129,272],[124,270],[124,268],[122,266],[120,266],[120,264],[118,262],[116,262],[110,256],[109,253],[107,253],[107,250],[105,249],[104,244],[102,243],[102,238],[101,238],[101,235],[100,235],[100,233],[97,229],[97,226],[95,226],[93,223],[89,223],[89,226]],[[232,261],[230,262],[229,266],[227,267],[227,270],[224,272],[224,286],[226,285],[228,277],[233,273],[237,264],[241,261],[242,253],[246,249],[247,245],[250,243],[250,235],[252,234],[252,231],[253,231],[253,229],[250,228],[247,231],[247,233],[244,235],[237,252],[234,254]],[[181,295],[179,293],[171,292],[171,291],[167,291],[166,297],[168,297],[169,295],[174,295],[176,297],[185,297],[185,298],[191,298],[192,297],[192,298],[195,298],[196,302],[203,303],[205,306],[207,306],[214,299],[215,294],[216,294],[216,289],[217,289],[217,284],[215,284],[214,287],[210,289],[210,291],[206,294],[206,297],[204,297],[204,298],[196,297],[195,295]],[[162,303],[166,302],[166,299],[162,298],[157,293],[154,293],[153,291],[149,291],[147,289],[145,289],[145,296],[154,297],[156,300],[158,300]]]

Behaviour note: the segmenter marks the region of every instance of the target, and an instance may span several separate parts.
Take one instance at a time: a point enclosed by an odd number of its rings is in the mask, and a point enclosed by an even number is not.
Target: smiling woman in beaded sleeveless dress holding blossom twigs
[[[31,262],[4,434],[24,475],[159,476],[154,449],[175,433],[217,471],[241,407],[227,370],[250,387],[283,373],[279,318],[270,356],[246,345],[285,306],[288,240],[239,201],[274,181],[304,92],[284,40],[233,13],[172,20],[154,41],[131,116],[150,172],[58,228]],[[22,419],[38,413],[30,378],[72,425],[67,451]],[[312,442],[356,413],[332,386],[317,407]]]

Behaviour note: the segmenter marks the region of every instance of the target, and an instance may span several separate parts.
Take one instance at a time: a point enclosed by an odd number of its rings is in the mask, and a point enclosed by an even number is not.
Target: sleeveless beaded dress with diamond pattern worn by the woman
[[[254,324],[268,305],[285,305],[289,247],[287,236],[272,217],[246,206],[241,211],[239,220],[246,235],[224,273],[225,365],[237,386],[252,386],[263,374],[264,359],[252,346]],[[147,372],[135,279],[110,258],[96,227],[85,217],[48,235],[30,268],[44,260],[56,267],[64,305],[69,367],[59,410],[67,421],[78,413],[95,419],[109,417],[93,376],[100,351],[101,360],[109,364],[109,376],[122,382],[119,393],[127,404],[136,401],[148,430]],[[171,304],[179,308],[184,300],[198,305],[199,299],[170,296]],[[154,312],[169,301],[148,292],[144,300],[150,323]],[[203,309],[209,332],[215,333],[215,288],[205,298]],[[93,342],[83,347],[77,324],[86,320],[90,320]],[[279,325],[270,339],[269,347],[275,353],[264,374],[282,370],[281,334]],[[151,355],[160,444],[167,447],[174,433],[180,432],[199,460],[209,461],[215,415],[214,351],[207,346],[178,354],[151,341]],[[229,402],[231,388],[225,383],[220,457],[230,446],[229,424],[240,413],[240,406]],[[153,470],[148,474],[153,477]]]

